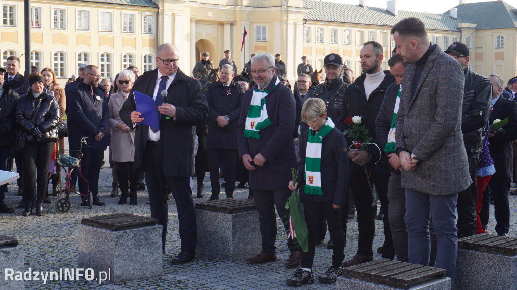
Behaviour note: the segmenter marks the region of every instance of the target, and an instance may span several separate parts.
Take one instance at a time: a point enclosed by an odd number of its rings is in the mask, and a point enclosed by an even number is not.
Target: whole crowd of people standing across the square
[[[314,282],[314,249],[327,228],[333,255],[318,277],[321,283],[336,282],[342,267],[372,261],[377,198],[387,217],[377,252],[391,260],[444,268],[453,278],[458,238],[490,233],[490,199],[496,234],[509,232],[517,77],[505,87],[496,74],[486,78],[473,72],[466,45],[454,42],[444,51],[431,44],[417,18],[401,20],[391,34],[396,49],[390,56],[377,42],[363,44],[357,79],[339,54],[330,53],[324,58],[325,80],[314,81],[317,71],[303,56],[294,91],[280,53],[252,54],[237,75],[230,50],[217,68],[204,52],[192,78],[179,69],[174,45],[162,44],[157,68],[142,75],[132,66],[113,82],[99,83],[99,68],[84,64],[79,77],[62,89],[52,69],[44,68],[29,75],[26,92],[20,61],[11,56],[6,69],[0,68],[0,170],[8,170],[14,158],[21,173],[23,216],[32,213],[37,179],[36,215],[43,215],[49,164],[56,148],[63,148],[57,126],[66,113],[69,148],[80,149],[84,137],[92,145],[82,147],[85,179],[79,178],[79,191],[91,193],[94,205],[104,204],[98,182],[110,145],[110,196],[117,196],[119,187],[119,204],[128,197],[130,205],[138,204],[145,173],[151,217],[162,225],[163,251],[172,194],[181,239],[172,264],[195,258],[195,170],[197,197],[203,197],[207,171],[209,200],[219,198],[222,176],[228,198],[233,198],[237,181],[238,187],[250,189],[262,237],[262,251],[248,259],[251,264],[276,260],[277,217],[289,232],[285,203],[292,191],[299,192],[308,251],[287,239],[291,254],[285,266],[301,265],[288,285]],[[389,70],[382,69],[385,58]],[[140,112],[137,93],[154,99],[156,125]],[[505,125],[491,129],[499,121]],[[296,180],[291,169],[299,170]],[[73,187],[77,180],[72,176]],[[351,204],[357,210],[358,250],[345,261]],[[84,196],[82,205],[88,205]],[[0,212],[13,211],[0,187]]]

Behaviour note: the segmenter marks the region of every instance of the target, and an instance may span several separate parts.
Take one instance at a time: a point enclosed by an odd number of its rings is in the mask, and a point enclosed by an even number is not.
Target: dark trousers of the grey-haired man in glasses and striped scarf
[[[277,240],[277,215],[275,215],[275,207],[277,208],[278,216],[287,233],[288,219],[285,217],[287,210],[285,209],[285,202],[291,196],[291,191],[288,189],[275,191],[262,191],[253,189],[255,197],[255,206],[258,211],[258,222],[260,223],[260,233],[262,236],[262,252],[272,255],[275,253],[275,241]],[[287,236],[287,234],[286,234]],[[294,244],[292,239],[287,239],[287,248],[292,252]]]

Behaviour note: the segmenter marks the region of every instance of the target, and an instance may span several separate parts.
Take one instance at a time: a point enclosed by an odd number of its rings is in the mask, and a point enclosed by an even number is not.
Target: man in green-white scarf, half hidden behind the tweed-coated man
[[[392,56],[388,60],[390,71],[397,80],[388,87],[384,96],[381,110],[375,120],[376,134],[382,136],[384,144],[378,144],[388,155],[389,163],[393,166],[388,183],[388,219],[391,228],[393,246],[397,254],[397,260],[407,262],[407,229],[404,221],[406,213],[406,192],[401,185],[401,163],[395,151],[395,118],[399,112],[400,95],[402,93],[402,78],[407,63],[400,55]]]

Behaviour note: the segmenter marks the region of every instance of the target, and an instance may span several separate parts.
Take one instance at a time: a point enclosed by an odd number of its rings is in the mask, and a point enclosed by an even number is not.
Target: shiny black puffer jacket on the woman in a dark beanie
[[[26,142],[50,143],[57,141],[57,123],[59,121],[59,105],[54,97],[47,95],[47,89],[38,98],[33,96],[32,90],[20,97],[16,104],[14,120],[19,130],[25,132]],[[38,103],[41,102],[34,123],[32,119]],[[43,136],[36,138],[32,129],[38,127]]]

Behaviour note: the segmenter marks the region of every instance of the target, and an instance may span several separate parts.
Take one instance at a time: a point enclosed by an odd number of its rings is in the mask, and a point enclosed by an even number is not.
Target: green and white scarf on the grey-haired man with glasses
[[[266,97],[271,94],[271,91],[275,90],[279,83],[280,80],[277,78],[277,81],[271,90],[266,88],[264,88],[264,90],[259,90],[257,86],[257,89],[253,91],[250,109],[248,110],[248,116],[246,117],[246,128],[244,130],[244,136],[246,138],[260,139],[260,130],[272,124],[267,115]]]

